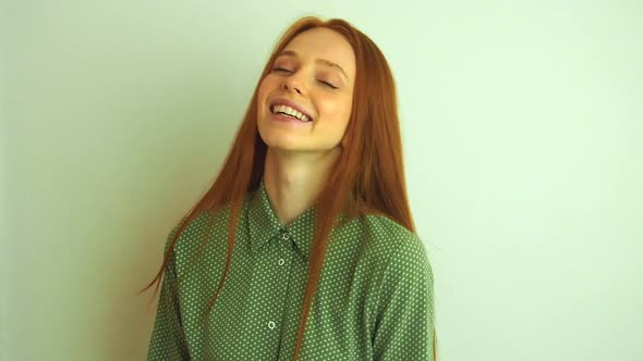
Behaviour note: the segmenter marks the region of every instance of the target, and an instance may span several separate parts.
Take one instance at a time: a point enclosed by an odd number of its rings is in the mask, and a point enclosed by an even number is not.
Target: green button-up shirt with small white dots
[[[291,361],[315,208],[282,225],[263,182],[248,194],[230,271],[203,322],[226,263],[229,208],[216,215],[202,263],[187,272],[210,216],[201,212],[174,246],[147,360]],[[173,292],[177,276],[181,286]],[[433,360],[433,273],[417,236],[380,215],[357,217],[335,229],[300,360]]]

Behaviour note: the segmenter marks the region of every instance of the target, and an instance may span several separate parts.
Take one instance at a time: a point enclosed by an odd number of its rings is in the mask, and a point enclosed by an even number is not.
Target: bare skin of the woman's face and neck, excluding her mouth
[[[313,206],[341,154],[354,82],[352,47],[342,35],[327,28],[294,37],[262,80],[257,127],[268,146],[264,180],[282,224]],[[276,121],[270,104],[278,98],[295,102],[313,122]]]

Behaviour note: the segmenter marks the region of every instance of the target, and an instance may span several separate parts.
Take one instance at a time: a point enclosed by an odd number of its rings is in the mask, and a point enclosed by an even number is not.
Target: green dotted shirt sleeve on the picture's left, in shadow
[[[170,232],[166,242],[166,251],[178,228],[179,226]],[[147,351],[147,361],[161,360],[190,360],[187,343],[181,323],[174,252],[170,254],[163,274],[156,320],[154,322],[154,328],[151,331],[149,348]]]

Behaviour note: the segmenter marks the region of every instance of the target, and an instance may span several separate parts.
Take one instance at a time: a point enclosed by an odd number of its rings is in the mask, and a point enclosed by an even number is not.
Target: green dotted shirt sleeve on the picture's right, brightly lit
[[[415,236],[400,245],[384,273],[374,360],[434,361],[433,297],[433,271]]]

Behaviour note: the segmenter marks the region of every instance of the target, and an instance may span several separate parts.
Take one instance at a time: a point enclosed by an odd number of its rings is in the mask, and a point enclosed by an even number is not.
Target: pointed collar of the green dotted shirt
[[[315,213],[315,207],[312,207],[288,225],[281,224],[268,198],[264,179],[262,179],[247,211],[252,252],[257,252],[272,237],[288,232],[303,259],[307,261],[313,247]]]

